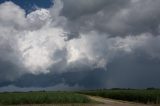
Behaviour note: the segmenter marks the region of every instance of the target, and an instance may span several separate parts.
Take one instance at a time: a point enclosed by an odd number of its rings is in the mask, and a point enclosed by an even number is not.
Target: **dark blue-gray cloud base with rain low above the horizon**
[[[86,69],[62,74],[26,74],[15,81],[0,82],[0,86],[45,88],[65,83],[71,87],[79,85],[85,89],[98,88],[148,88],[160,87],[160,60],[143,55],[127,55],[114,59],[103,69]]]

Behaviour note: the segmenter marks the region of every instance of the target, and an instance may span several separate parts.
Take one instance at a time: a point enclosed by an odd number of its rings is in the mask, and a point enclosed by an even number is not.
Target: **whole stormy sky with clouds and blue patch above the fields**
[[[160,88],[160,0],[0,0],[0,92]]]

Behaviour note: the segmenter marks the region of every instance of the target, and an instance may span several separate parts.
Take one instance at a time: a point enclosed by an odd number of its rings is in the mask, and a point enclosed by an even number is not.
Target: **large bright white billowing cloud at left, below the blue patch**
[[[12,2],[1,4],[0,9],[1,59],[31,73],[49,72],[47,68],[59,61],[53,60],[53,54],[65,45],[64,31],[55,26],[50,11],[38,9],[25,16]]]

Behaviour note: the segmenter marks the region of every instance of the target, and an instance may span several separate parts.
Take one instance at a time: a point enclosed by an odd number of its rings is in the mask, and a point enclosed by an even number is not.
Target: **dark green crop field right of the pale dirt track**
[[[79,93],[145,104],[160,104],[160,90],[95,90]]]

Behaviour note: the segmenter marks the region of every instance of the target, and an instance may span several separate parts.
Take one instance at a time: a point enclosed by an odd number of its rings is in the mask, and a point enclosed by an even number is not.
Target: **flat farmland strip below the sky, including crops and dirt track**
[[[160,90],[3,92],[0,106],[159,106]]]

